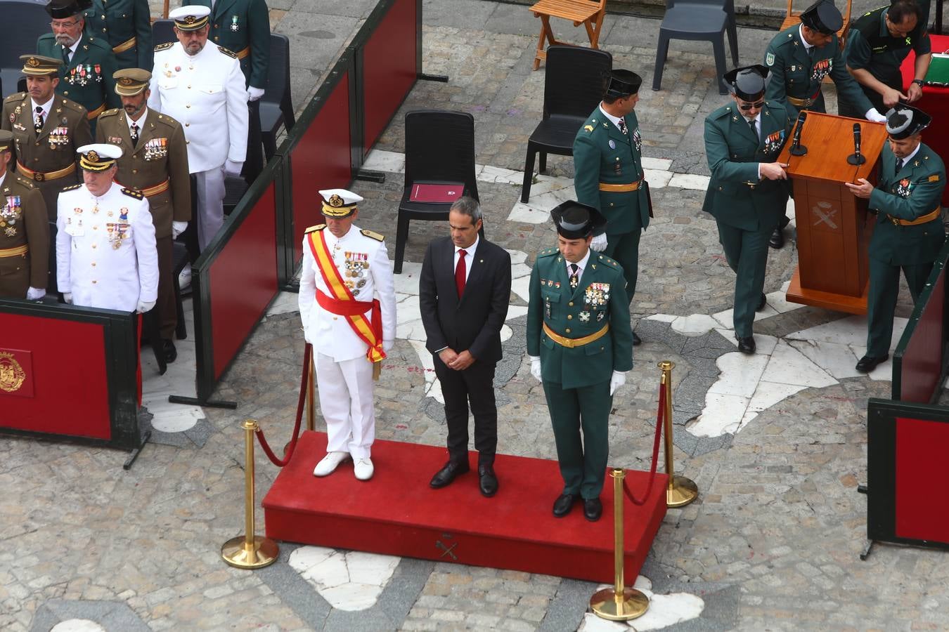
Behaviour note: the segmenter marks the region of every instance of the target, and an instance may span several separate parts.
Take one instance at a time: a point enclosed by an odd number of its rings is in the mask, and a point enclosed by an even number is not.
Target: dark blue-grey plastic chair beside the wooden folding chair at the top
[[[735,27],[735,0],[666,0],[665,15],[659,27],[653,90],[662,84],[662,70],[669,52],[669,40],[707,41],[715,53],[718,94],[726,94],[721,77],[725,74],[725,31],[732,49],[732,62],[738,65],[738,38]]]

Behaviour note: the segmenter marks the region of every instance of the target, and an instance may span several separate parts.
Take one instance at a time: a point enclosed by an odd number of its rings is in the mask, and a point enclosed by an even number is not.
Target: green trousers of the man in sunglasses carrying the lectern
[[[725,260],[735,271],[735,335],[752,335],[754,309],[761,300],[768,266],[768,239],[772,229],[743,230],[720,221],[718,241],[725,250]]]

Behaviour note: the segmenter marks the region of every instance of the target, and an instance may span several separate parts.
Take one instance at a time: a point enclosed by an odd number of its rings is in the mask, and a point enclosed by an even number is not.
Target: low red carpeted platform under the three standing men
[[[267,535],[354,551],[419,557],[494,569],[613,582],[612,479],[601,496],[603,517],[587,522],[582,505],[565,518],[550,514],[563,489],[554,460],[498,455],[497,496],[485,498],[472,472],[448,487],[428,481],[446,460],[443,447],[377,441],[375,477],[353,477],[352,461],[317,479],[313,467],[326,454],[326,434],[305,432],[296,453],[267,496]],[[649,473],[627,471],[626,480],[642,497]],[[657,475],[642,506],[626,501],[625,578],[632,584],[665,515],[664,475]]]

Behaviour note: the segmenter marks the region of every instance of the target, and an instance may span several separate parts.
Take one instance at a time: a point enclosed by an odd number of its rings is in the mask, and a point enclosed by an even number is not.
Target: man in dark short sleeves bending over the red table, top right
[[[903,93],[900,66],[911,50],[916,52],[915,79]],[[865,13],[847,31],[845,56],[847,70],[880,112],[919,100],[933,58],[920,7],[913,0],[896,0]],[[847,99],[838,103],[842,117],[858,117],[859,109]]]

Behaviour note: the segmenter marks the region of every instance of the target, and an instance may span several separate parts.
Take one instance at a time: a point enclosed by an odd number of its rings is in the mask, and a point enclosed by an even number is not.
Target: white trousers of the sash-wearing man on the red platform
[[[370,457],[376,438],[372,363],[363,355],[337,362],[317,352],[316,386],[326,419],[326,451],[348,452],[353,459]]]

